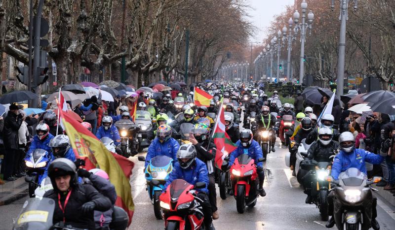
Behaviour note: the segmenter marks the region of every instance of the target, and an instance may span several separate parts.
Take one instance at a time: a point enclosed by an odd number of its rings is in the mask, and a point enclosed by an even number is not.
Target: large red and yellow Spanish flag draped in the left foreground
[[[65,127],[67,135],[76,157],[85,160],[85,169],[100,168],[107,172],[110,182],[117,191],[115,205],[123,208],[129,216],[129,225],[132,221],[134,204],[129,184],[129,177],[132,174],[133,162],[129,159],[111,153],[100,142],[92,132],[84,128],[78,121],[69,114],[60,110],[61,121]]]

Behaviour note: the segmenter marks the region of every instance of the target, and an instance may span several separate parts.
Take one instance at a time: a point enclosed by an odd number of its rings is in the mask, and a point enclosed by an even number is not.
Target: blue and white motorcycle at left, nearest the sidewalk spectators
[[[40,177],[44,174],[47,164],[51,160],[51,154],[43,149],[35,149],[31,157],[24,159],[29,182],[29,197],[35,197],[35,190],[41,183]]]

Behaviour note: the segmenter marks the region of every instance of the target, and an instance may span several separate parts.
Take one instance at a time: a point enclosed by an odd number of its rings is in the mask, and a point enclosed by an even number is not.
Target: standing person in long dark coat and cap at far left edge
[[[4,144],[4,160],[1,164],[1,172],[4,180],[14,181],[16,178],[12,177],[12,172],[15,164],[15,156],[19,151],[18,145],[18,130],[22,125],[23,114],[19,113],[18,105],[11,104],[9,111],[4,119],[4,126],[2,131],[2,138]]]

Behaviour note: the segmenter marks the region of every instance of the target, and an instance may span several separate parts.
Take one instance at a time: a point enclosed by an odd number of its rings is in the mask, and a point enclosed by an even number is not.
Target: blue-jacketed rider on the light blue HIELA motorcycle
[[[180,148],[180,144],[171,137],[171,127],[166,124],[160,125],[156,135],[157,137],[148,147],[144,168],[147,167],[151,159],[156,156],[167,156],[173,159],[174,162],[177,161],[177,151]]]

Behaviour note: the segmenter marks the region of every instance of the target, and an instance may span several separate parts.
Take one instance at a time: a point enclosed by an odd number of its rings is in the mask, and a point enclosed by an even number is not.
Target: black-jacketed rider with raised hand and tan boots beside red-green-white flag
[[[189,136],[189,140],[195,146],[197,151],[197,159],[206,163],[208,170],[208,197],[211,204],[212,216],[216,220],[219,218],[217,208],[217,193],[215,190],[215,179],[214,179],[214,166],[212,159],[215,157],[217,152],[214,141],[209,138],[210,130],[208,126],[197,123],[192,130],[193,135]]]

